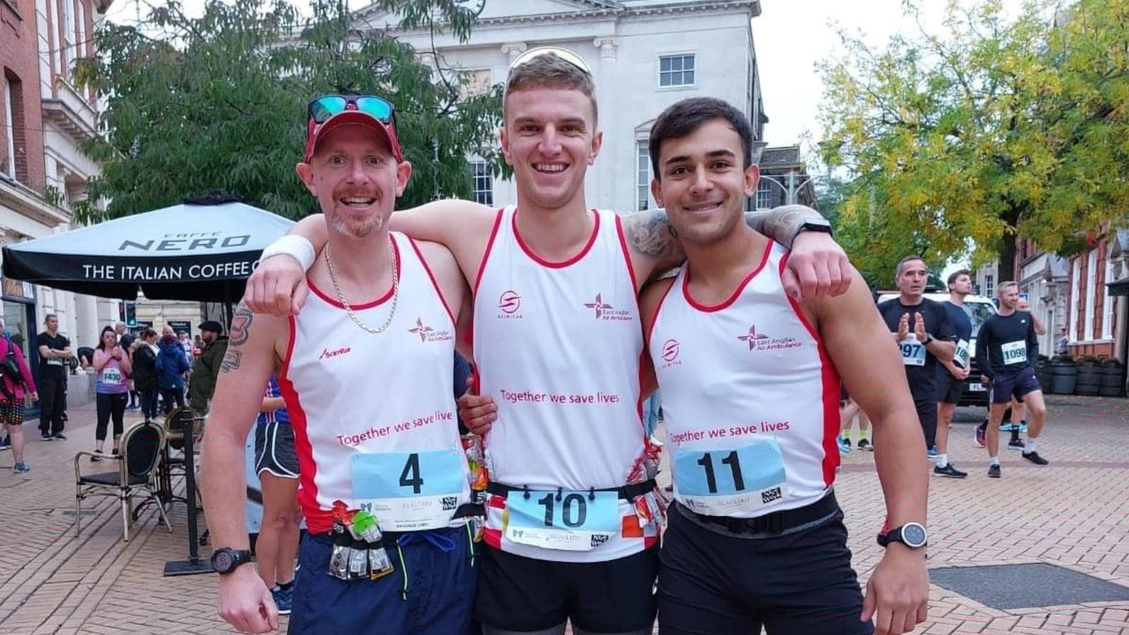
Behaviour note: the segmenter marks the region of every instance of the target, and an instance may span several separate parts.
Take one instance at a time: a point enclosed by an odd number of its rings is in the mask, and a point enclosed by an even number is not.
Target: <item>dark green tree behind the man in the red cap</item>
[[[467,37],[473,15],[455,0],[380,0],[406,27]],[[396,107],[413,174],[400,200],[470,197],[466,155],[497,166],[490,149],[501,90],[467,96],[466,78],[432,69],[382,31],[356,28],[342,1],[317,0],[303,17],[286,0],[209,0],[189,18],[178,2],[152,10],[145,28],[107,24],[98,56],[77,77],[106,102],[103,134],[84,146],[102,164],[82,220],[148,211],[225,189],[299,218],[316,203],[294,167],[306,140],[306,104],[317,94],[362,93]]]

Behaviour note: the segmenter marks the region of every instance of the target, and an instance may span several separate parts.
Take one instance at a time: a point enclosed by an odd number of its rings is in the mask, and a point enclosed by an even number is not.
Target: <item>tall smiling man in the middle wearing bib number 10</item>
[[[562,633],[568,621],[577,634],[650,633],[658,531],[638,510],[654,499],[657,450],[638,411],[636,298],[684,256],[664,212],[620,217],[586,202],[603,132],[583,58],[563,49],[519,55],[504,113],[499,141],[516,206],[446,200],[388,220],[449,247],[473,281],[478,388],[499,410],[485,437],[492,482],[476,617],[488,635]],[[794,208],[754,223],[790,243],[814,216]],[[315,216],[295,232],[316,238],[316,249],[296,250],[313,256],[327,228]],[[830,236],[814,234],[796,241],[789,288],[841,292],[846,262]],[[272,250],[248,280],[247,303],[294,313],[307,294],[305,271],[296,259],[269,258]],[[587,371],[553,371],[564,367]]]

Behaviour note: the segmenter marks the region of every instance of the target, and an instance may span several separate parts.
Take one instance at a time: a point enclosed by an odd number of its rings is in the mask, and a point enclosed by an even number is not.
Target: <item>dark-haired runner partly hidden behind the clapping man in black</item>
[[[964,296],[972,293],[972,276],[968,269],[948,276],[948,302],[942,303],[948,313],[948,321],[956,331],[956,349],[952,360],[938,358],[937,367],[937,464],[933,473],[949,478],[964,478],[962,472],[948,462],[948,426],[953,412],[964,394],[964,380],[969,376],[969,342],[972,341],[972,319],[964,312]]]

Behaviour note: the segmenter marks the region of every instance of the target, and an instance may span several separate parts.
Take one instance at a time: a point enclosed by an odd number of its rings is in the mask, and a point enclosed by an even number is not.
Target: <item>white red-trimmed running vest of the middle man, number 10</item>
[[[646,436],[639,416],[642,333],[634,273],[619,217],[607,210],[594,214],[584,250],[553,263],[523,243],[514,207],[499,210],[475,282],[479,385],[498,406],[498,419],[485,436],[490,479],[531,490],[566,490],[555,504],[543,495],[510,493],[508,502],[489,497],[487,543],[525,557],[604,562],[656,540],[650,527],[639,528],[627,501],[596,501],[586,494],[586,522],[580,523],[581,502],[567,496],[568,490],[620,487],[637,477]],[[525,513],[518,508],[523,505]],[[549,548],[508,531],[536,524],[542,514],[558,524],[563,517],[568,527],[592,525],[606,533],[587,547]],[[535,533],[539,528],[528,529]]]

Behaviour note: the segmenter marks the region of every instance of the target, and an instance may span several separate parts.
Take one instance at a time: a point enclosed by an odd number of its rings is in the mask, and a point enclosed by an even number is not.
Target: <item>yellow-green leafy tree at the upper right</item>
[[[912,2],[907,10],[914,11]],[[841,236],[864,269],[973,250],[1015,262],[1015,237],[1069,252],[1129,221],[1129,1],[949,2],[946,33],[884,51],[841,34],[823,67],[823,158],[852,173]],[[920,23],[919,23],[920,24]]]

